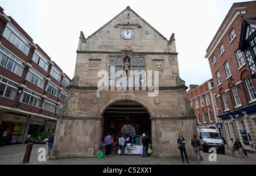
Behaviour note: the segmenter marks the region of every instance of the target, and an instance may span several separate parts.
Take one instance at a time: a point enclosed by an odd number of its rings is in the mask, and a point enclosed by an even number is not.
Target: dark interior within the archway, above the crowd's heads
[[[104,134],[121,135],[124,125],[133,125],[135,134],[146,132],[151,136],[151,120],[146,108],[137,102],[119,101],[113,103],[104,112]]]

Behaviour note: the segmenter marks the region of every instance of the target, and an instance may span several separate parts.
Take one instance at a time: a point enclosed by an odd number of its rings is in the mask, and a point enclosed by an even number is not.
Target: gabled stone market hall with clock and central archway
[[[180,158],[181,132],[188,156],[195,157],[190,141],[196,117],[179,76],[174,33],[170,36],[166,39],[129,6],[92,35],[81,31],[52,159],[95,157],[108,132],[146,132],[152,137],[151,157],[172,158]]]

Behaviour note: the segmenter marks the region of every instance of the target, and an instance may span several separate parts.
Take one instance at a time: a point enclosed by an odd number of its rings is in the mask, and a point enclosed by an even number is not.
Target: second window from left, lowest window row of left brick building
[[[41,98],[42,98],[41,95],[36,94],[31,90],[23,89],[23,93],[20,98],[20,102],[29,104],[31,106],[39,107]]]

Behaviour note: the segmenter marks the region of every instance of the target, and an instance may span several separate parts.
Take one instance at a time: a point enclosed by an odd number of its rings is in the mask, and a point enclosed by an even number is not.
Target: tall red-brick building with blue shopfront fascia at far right
[[[241,23],[256,16],[256,1],[234,3],[207,48],[225,139],[240,139],[245,148],[255,146],[255,79],[239,47]]]

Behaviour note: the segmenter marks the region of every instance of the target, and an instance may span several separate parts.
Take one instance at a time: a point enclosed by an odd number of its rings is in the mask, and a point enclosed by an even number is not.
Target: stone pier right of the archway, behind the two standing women
[[[191,145],[193,133],[197,133],[195,116],[151,118],[153,158],[180,158],[177,138],[183,133],[189,158],[196,158]]]

